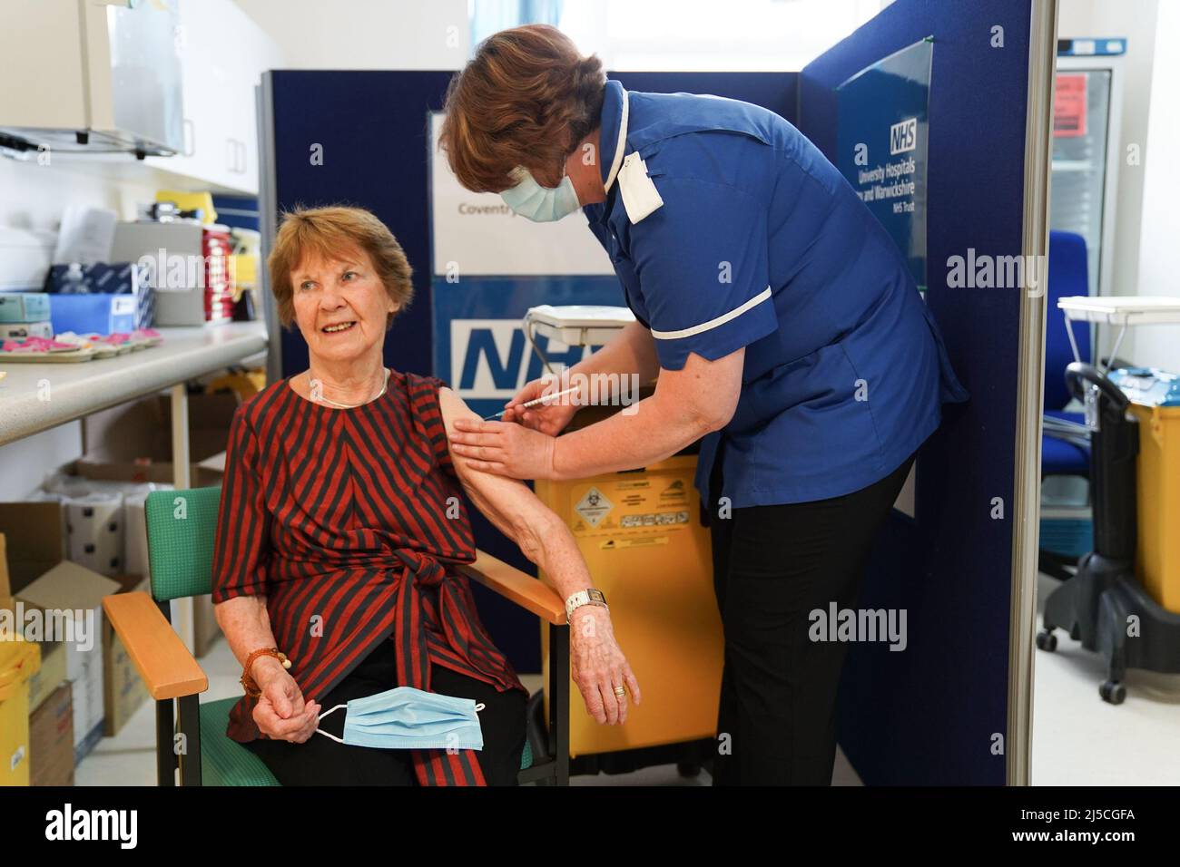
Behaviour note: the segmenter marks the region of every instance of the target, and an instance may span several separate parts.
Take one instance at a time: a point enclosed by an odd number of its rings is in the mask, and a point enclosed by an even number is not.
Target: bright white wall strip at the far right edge
[[[1150,123],[1143,165],[1143,219],[1139,251],[1139,294],[1180,298],[1180,175],[1175,170],[1180,142],[1180,2],[1160,4]],[[1141,327],[1135,333],[1136,363],[1180,372],[1180,326]]]

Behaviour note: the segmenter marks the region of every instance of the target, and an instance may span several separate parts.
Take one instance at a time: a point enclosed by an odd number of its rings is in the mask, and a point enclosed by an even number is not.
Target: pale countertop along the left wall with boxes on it
[[[156,330],[163,343],[113,359],[0,362],[7,373],[0,379],[0,445],[219,370],[267,348],[263,321]]]

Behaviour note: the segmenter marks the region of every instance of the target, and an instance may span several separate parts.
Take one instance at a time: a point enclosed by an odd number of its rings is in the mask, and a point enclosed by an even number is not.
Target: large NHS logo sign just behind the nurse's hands
[[[533,339],[555,370],[572,367],[598,348]],[[507,400],[544,373],[519,318],[451,320],[451,373],[444,379],[464,400]]]

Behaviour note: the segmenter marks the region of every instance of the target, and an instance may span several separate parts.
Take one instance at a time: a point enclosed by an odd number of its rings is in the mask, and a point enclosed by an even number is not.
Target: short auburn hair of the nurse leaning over
[[[493,33],[447,87],[440,146],[451,170],[473,192],[513,186],[518,165],[556,182],[598,126],[605,85],[602,61],[556,27]]]

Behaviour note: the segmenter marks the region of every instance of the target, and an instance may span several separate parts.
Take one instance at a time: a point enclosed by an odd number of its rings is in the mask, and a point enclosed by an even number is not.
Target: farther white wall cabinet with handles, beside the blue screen
[[[181,0],[184,151],[148,163],[190,189],[257,195],[255,85],[282,66],[278,46],[232,0]]]

